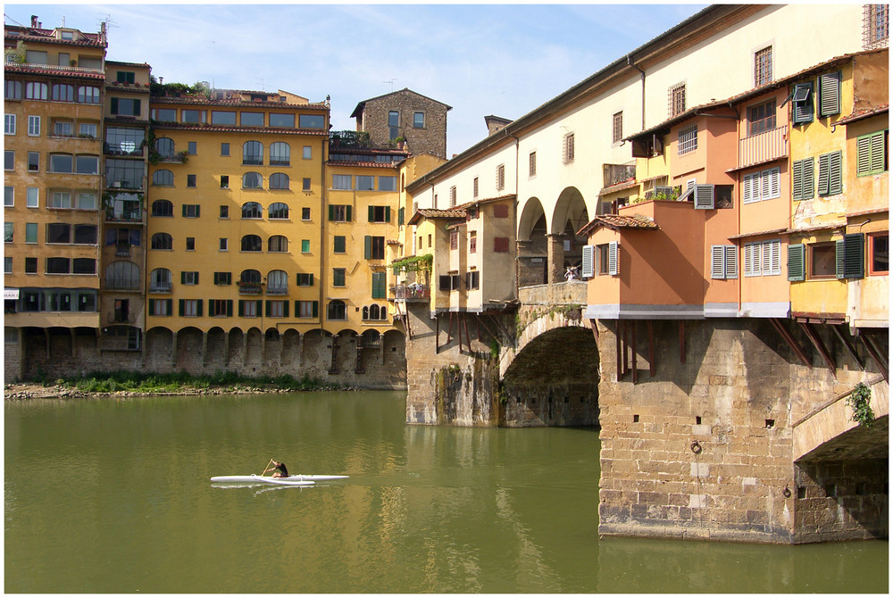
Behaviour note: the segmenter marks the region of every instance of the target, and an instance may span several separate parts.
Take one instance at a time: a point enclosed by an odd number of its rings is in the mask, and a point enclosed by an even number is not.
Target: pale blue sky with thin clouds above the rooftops
[[[4,4],[6,24],[87,32],[110,20],[111,60],[165,82],[331,96],[356,104],[409,87],[449,104],[447,154],[516,119],[705,4]]]

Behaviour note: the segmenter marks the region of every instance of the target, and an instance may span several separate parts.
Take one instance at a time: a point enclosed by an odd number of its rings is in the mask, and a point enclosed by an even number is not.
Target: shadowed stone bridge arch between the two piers
[[[500,354],[505,425],[597,426],[598,348],[580,308],[555,305],[522,317],[517,343]]]

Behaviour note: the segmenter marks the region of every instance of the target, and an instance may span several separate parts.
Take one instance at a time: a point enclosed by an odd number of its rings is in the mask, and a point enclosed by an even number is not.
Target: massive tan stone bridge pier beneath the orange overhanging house
[[[801,465],[792,453],[797,419],[875,373],[841,351],[836,378],[821,360],[797,366],[763,320],[687,321],[684,334],[679,322],[663,321],[653,323],[655,376],[640,322],[638,382],[630,373],[618,381],[615,326],[598,323],[599,533],[797,543],[814,541],[816,524],[833,519],[837,539],[886,534],[878,521],[878,505],[887,502],[884,446],[873,449],[880,461],[862,454]],[[869,484],[872,477],[878,483]],[[822,484],[834,486],[832,494]]]

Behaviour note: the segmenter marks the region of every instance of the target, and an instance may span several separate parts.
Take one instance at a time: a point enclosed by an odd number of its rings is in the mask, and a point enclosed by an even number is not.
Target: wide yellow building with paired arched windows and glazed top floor
[[[146,329],[320,328],[328,103],[200,89],[151,110]]]

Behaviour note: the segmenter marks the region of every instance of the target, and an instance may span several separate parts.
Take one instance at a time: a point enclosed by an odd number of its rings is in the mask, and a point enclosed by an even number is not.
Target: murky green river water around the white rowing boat
[[[889,588],[887,542],[599,539],[595,429],[407,426],[405,394],[387,392],[34,400],[4,416],[7,593]],[[350,478],[209,481],[271,458]]]

